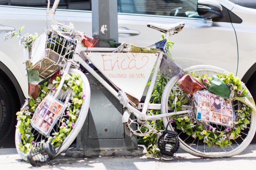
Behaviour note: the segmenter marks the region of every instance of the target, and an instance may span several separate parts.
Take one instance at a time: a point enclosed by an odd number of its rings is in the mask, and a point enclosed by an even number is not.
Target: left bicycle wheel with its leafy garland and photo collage
[[[32,144],[47,141],[53,144],[57,157],[72,144],[84,124],[90,104],[90,84],[84,73],[77,69],[69,69],[62,78],[65,79],[63,86],[58,86],[61,78],[56,78],[50,84],[44,83],[45,86],[40,87],[39,97],[28,99],[17,112],[15,144],[23,160],[27,160],[26,153]],[[61,91],[55,95],[59,88]],[[57,101],[49,100],[53,96]]]

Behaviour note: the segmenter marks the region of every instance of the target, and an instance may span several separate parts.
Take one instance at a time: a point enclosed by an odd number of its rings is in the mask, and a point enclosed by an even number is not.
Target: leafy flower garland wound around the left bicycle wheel
[[[27,153],[31,148],[32,144],[35,143],[32,131],[34,130],[30,124],[30,119],[35,112],[36,107],[40,104],[40,102],[47,96],[48,93],[58,89],[59,82],[61,81],[60,77],[57,77],[52,84],[48,84],[45,82],[40,85],[40,91],[38,92],[38,97],[33,99],[32,97],[27,100],[27,104],[23,106],[20,112],[17,112],[17,120],[20,121],[18,130],[19,130],[19,147],[20,151],[23,153]],[[54,145],[54,147],[58,147],[63,142],[64,138],[69,135],[70,131],[75,127],[77,118],[79,116],[79,110],[81,109],[81,104],[84,102],[83,97],[85,94],[82,89],[82,81],[80,79],[80,75],[72,75],[65,77],[64,85],[62,89],[65,91],[69,88],[73,89],[72,94],[72,103],[68,103],[67,111],[64,113],[66,115],[65,118],[62,118],[61,127],[58,129],[57,133],[52,133],[51,136],[46,138],[48,141]],[[52,87],[53,86],[53,87]],[[35,133],[34,133],[35,134]]]

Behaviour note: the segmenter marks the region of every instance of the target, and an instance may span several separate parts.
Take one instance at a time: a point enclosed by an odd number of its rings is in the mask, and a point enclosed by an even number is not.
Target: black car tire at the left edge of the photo
[[[18,107],[17,95],[15,98],[15,92],[2,80],[0,79],[0,143],[14,131]]]

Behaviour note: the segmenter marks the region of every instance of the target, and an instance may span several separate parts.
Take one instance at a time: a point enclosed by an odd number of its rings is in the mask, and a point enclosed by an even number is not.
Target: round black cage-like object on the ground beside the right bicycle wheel
[[[178,133],[172,130],[167,130],[169,123],[166,126],[166,131],[163,132],[158,139],[157,145],[160,149],[160,153],[173,156],[173,154],[179,149],[180,144],[178,140]]]

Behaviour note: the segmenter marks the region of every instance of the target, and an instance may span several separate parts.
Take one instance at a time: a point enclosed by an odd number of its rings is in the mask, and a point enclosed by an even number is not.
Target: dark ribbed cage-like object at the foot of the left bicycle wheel
[[[49,163],[55,155],[56,152],[52,144],[37,142],[27,153],[27,159],[32,166],[38,167]]]

